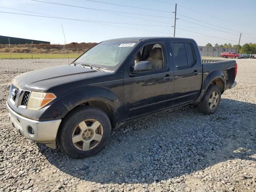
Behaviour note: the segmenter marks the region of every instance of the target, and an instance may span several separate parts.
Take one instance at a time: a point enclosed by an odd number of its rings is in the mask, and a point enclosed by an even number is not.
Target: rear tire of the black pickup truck
[[[215,94],[215,97],[213,97],[213,93]],[[217,99],[217,94],[218,94],[218,99]],[[213,104],[214,100],[211,100],[212,102],[210,102],[211,98],[215,99],[215,105],[213,105],[212,107],[211,107],[211,104]],[[206,115],[214,114],[214,112],[216,112],[216,110],[220,106],[220,99],[221,99],[220,88],[218,88],[218,86],[216,86],[215,84],[210,85],[208,90],[206,91],[206,94],[204,95],[202,100],[198,103],[198,106],[197,106],[198,111]]]

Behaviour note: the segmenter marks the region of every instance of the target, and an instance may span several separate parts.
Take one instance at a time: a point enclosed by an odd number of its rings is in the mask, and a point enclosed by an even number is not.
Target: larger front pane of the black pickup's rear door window
[[[188,66],[187,54],[184,43],[172,43],[172,50],[176,67]]]

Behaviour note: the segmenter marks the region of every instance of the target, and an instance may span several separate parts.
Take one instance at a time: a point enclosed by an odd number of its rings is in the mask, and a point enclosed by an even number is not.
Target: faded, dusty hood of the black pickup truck
[[[88,67],[60,65],[20,74],[12,80],[12,84],[24,90],[44,92],[53,86],[102,74],[107,73]]]

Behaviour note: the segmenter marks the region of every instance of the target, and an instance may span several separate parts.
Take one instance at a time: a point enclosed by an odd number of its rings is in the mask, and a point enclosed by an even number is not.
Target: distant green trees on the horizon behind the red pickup
[[[206,44],[207,47],[225,47],[225,48],[237,48],[238,45],[232,45],[231,43],[219,45],[216,43],[214,46],[208,43]],[[249,53],[249,54],[256,54],[256,43],[246,43],[243,46],[239,45],[238,53]]]

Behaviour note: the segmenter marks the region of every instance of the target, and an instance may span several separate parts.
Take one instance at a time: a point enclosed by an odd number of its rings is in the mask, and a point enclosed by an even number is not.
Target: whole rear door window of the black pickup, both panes
[[[176,67],[190,66],[194,63],[194,51],[190,43],[172,43]]]

